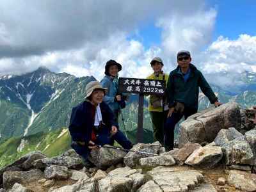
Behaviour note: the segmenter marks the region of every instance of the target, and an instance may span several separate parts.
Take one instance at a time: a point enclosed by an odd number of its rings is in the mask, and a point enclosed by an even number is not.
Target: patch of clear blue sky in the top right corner
[[[256,35],[256,1],[211,0],[218,12],[214,40],[220,36],[236,39],[241,34]]]

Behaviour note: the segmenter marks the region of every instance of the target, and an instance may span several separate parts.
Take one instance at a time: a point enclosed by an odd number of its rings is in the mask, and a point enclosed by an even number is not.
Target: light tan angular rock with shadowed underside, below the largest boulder
[[[185,163],[200,168],[212,168],[221,160],[222,156],[221,147],[205,146],[196,149]]]

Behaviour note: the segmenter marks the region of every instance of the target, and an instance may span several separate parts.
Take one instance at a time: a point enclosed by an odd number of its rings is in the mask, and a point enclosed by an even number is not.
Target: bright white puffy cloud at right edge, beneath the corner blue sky
[[[240,35],[236,40],[220,36],[200,55],[200,67],[207,73],[256,72],[256,36]]]

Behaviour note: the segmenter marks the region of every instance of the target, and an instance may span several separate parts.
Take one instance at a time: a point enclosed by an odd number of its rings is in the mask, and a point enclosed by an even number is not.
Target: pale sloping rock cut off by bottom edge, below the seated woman
[[[97,191],[97,185],[94,179],[84,179],[79,180],[76,184],[71,186],[63,186],[61,188],[55,189],[52,192],[76,192],[76,191],[83,191],[83,192],[95,192]]]

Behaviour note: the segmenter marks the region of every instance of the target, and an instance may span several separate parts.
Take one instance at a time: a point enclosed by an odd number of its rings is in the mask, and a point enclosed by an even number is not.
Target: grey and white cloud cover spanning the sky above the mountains
[[[205,1],[14,1],[0,5],[0,75],[43,65],[75,76],[104,76],[109,59],[122,63],[120,76],[146,77],[160,56],[164,71],[175,68],[176,53],[188,49],[205,73],[256,72],[256,36],[212,42],[218,12]],[[145,47],[129,38],[154,21],[161,42]]]

